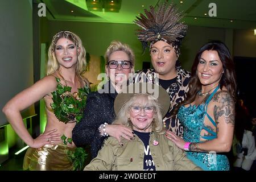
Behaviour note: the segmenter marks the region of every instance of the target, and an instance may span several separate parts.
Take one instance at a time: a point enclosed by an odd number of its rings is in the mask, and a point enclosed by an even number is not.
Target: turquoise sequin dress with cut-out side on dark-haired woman
[[[216,126],[216,123],[207,113],[207,106],[212,100],[213,95],[217,92],[219,86],[214,89],[213,93],[210,94],[209,98],[205,104],[190,105],[188,107],[181,106],[177,117],[180,120],[181,125],[184,127],[183,139],[186,142],[200,143],[201,138],[206,140],[212,140],[217,138],[216,132],[209,130],[207,126],[204,125],[205,115],[209,118],[210,122]],[[201,130],[206,130],[209,132],[210,136],[201,136]],[[192,160],[197,166],[201,167],[207,171],[228,171],[229,161],[225,155],[216,154],[212,151],[208,153],[204,152],[187,152],[187,158]]]

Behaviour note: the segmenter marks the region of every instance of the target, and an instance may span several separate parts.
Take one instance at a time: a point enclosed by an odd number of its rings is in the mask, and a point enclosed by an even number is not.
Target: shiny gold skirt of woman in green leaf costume
[[[28,148],[23,161],[23,170],[30,171],[71,171],[73,164],[67,151],[75,147],[64,144],[46,144],[42,148]]]

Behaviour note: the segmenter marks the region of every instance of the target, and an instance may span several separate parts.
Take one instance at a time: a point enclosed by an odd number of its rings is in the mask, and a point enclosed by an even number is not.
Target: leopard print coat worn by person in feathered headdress
[[[171,105],[168,113],[163,119],[163,122],[167,130],[170,130],[176,133],[176,135],[182,137],[183,126],[181,126],[176,115],[171,117],[171,111],[177,106],[177,104],[184,101],[186,93],[188,92],[188,82],[190,80],[191,73],[185,71],[180,66],[177,66],[176,70],[177,81],[167,88],[167,92],[171,98]],[[158,81],[158,74],[154,69],[137,71],[137,73],[135,73],[133,82],[151,82],[152,84],[160,85]]]

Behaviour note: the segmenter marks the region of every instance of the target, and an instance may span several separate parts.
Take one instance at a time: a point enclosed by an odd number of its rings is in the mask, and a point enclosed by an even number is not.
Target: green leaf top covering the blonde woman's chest
[[[60,83],[60,78],[55,77],[57,81],[57,88],[52,94],[52,111],[59,121],[68,122],[80,122],[82,118],[82,111],[86,104],[86,98],[90,92],[89,86],[85,85],[79,88],[77,92],[71,93],[71,87],[64,86]],[[65,80],[64,80],[65,81]]]

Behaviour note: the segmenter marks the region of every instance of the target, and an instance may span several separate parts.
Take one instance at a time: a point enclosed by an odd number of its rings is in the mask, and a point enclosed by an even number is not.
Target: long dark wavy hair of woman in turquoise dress
[[[199,64],[201,55],[204,51],[217,51],[218,57],[220,57],[224,73],[221,76],[220,80],[220,89],[225,86],[229,94],[232,96],[233,100],[236,101],[236,73],[234,68],[234,62],[230,55],[229,49],[225,46],[224,43],[220,41],[208,42],[203,47],[200,48],[200,51],[197,53],[194,63],[191,68],[191,80],[189,81],[189,91],[187,93],[186,100],[181,102],[173,111],[172,114],[177,114],[177,110],[180,106],[190,104],[195,101],[197,92],[201,89],[201,82],[197,76],[197,65]]]

